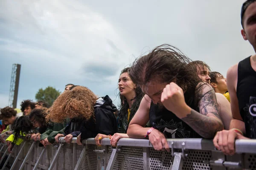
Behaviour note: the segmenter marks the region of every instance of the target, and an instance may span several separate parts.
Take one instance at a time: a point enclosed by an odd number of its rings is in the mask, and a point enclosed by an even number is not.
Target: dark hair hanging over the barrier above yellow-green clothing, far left
[[[24,134],[31,133],[31,130],[33,129],[32,122],[29,119],[29,116],[20,116],[17,118],[17,121],[14,125],[14,139],[13,142],[16,143],[18,138],[23,139]]]

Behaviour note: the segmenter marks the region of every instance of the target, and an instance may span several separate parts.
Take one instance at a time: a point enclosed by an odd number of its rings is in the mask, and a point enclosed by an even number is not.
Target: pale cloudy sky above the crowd
[[[120,71],[169,43],[213,71],[254,54],[241,37],[244,0],[1,0],[0,108],[12,64],[21,64],[18,105],[39,88],[73,83],[117,104]],[[116,99],[116,100],[115,100]]]

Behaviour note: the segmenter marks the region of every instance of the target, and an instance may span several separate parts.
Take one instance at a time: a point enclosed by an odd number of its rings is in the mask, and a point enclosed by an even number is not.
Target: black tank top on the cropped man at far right
[[[238,64],[236,95],[246,136],[256,139],[256,72],[251,66],[250,57]]]

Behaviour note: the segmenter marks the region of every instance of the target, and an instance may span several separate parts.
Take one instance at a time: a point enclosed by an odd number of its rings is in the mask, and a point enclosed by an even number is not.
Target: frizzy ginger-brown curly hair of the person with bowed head
[[[94,118],[94,105],[97,96],[87,87],[76,86],[64,91],[47,109],[47,121],[64,122],[66,118]]]

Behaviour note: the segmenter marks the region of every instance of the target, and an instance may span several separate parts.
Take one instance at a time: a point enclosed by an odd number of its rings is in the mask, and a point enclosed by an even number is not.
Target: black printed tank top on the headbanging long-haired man
[[[163,106],[155,105],[153,102],[150,105],[149,121],[150,126],[163,132],[166,138],[202,138],[174,113]]]

